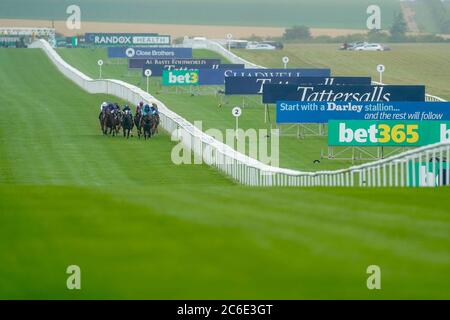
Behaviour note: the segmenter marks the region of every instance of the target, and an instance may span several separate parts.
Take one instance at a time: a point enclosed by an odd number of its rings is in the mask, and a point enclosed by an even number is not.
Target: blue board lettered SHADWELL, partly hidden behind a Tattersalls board
[[[223,68],[221,71],[200,71],[200,84],[224,85],[226,77],[330,77],[330,69],[232,69]],[[203,78],[203,79],[202,79]]]

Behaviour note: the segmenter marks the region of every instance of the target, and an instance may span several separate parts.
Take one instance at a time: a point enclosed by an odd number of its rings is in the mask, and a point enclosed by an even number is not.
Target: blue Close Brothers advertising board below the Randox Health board
[[[109,47],[108,58],[192,59],[192,48]]]

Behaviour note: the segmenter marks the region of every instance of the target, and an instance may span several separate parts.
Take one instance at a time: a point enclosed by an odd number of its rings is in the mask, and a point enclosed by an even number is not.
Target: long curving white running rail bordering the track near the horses
[[[345,170],[301,172],[265,165],[215,140],[169,110],[164,103],[138,87],[119,80],[93,80],[66,63],[45,41],[32,48],[44,50],[60,72],[89,93],[114,95],[133,104],[156,103],[161,126],[203,161],[248,186],[437,186],[449,183],[450,143],[438,143]]]

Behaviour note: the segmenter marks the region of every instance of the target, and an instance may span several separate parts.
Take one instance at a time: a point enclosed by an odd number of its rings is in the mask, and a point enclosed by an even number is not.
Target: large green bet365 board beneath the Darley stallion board
[[[450,142],[450,122],[370,121],[328,122],[330,146],[423,146]]]

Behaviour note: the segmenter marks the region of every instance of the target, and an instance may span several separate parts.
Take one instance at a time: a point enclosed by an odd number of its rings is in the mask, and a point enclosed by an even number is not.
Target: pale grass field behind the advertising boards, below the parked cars
[[[384,64],[385,83],[424,84],[427,93],[450,100],[449,44],[392,44],[392,51],[338,51],[337,45],[287,45],[282,51],[237,50],[235,53],[266,67],[282,67],[283,56],[289,67],[329,67],[334,75],[367,76],[378,79],[376,66]]]

